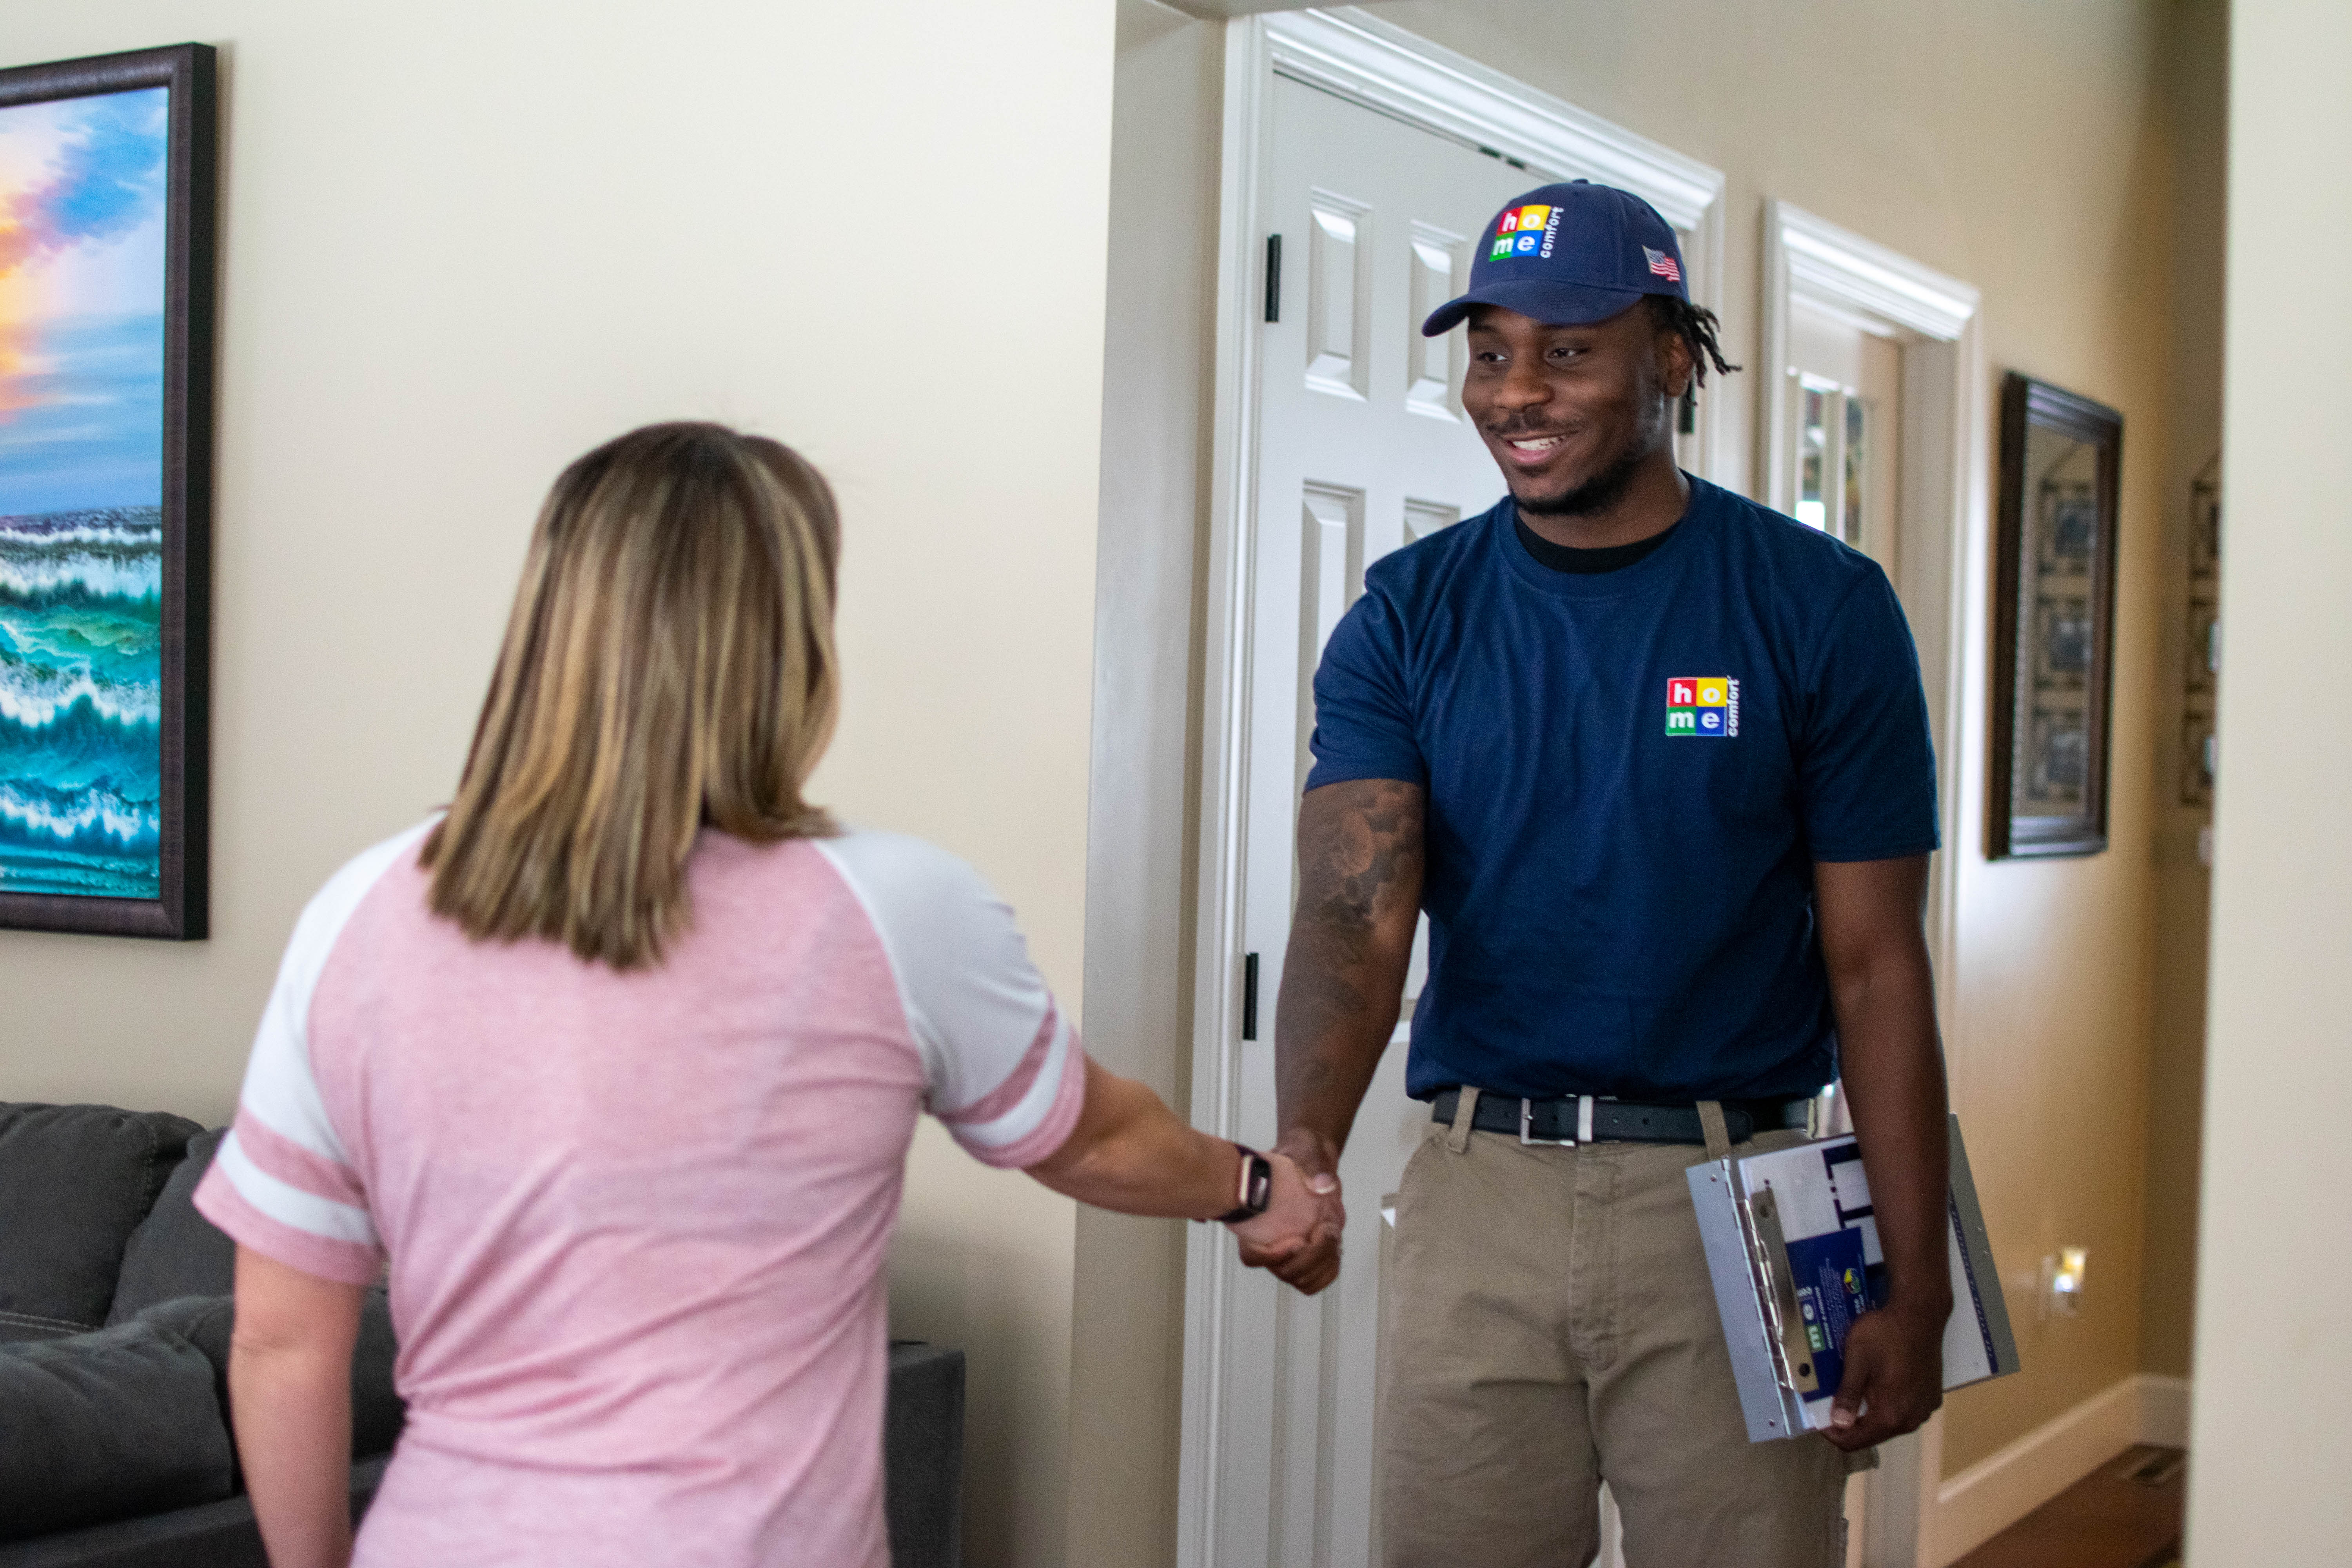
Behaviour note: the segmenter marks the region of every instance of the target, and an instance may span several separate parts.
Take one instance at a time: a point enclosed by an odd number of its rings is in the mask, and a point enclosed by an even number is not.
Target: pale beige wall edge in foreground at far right
[[[2187,1561],[2340,1563],[2352,1540],[2352,9],[2239,5],[2230,28],[2220,792]],[[2281,277],[2279,235],[2326,259]]]

